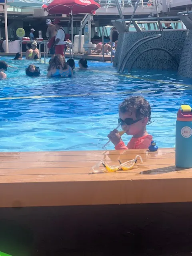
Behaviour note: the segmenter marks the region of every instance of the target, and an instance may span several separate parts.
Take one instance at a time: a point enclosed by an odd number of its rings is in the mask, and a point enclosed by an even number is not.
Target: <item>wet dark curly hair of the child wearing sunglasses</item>
[[[130,98],[124,99],[124,101],[119,105],[119,110],[122,113],[131,112],[134,108],[136,111],[137,118],[148,117],[148,123],[151,124],[151,107],[149,102],[141,96],[132,96]]]

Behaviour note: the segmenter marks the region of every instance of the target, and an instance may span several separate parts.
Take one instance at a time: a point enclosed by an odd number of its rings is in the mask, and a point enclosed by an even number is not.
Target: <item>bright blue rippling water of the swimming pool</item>
[[[15,68],[0,81],[0,151],[97,150],[117,125],[118,104],[131,95],[150,102],[148,132],[158,146],[174,147],[176,112],[192,102],[192,80],[168,72],[120,75],[112,64],[95,61],[80,71],[76,61],[73,78],[46,78],[48,64],[36,62],[41,76],[30,78],[25,68],[34,61],[1,60]]]

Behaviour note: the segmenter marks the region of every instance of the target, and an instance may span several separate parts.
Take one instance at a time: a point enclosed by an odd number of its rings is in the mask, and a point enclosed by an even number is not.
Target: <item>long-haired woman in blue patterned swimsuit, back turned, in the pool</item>
[[[65,57],[56,54],[48,66],[48,77],[72,77],[73,70],[65,62]]]

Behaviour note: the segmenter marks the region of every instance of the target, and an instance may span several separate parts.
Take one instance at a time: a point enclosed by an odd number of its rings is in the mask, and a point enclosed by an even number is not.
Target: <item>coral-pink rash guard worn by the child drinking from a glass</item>
[[[130,142],[127,146],[124,144],[123,141],[120,141],[116,146],[115,149],[146,149],[150,146],[152,142],[151,135],[145,135],[140,138],[131,138]]]

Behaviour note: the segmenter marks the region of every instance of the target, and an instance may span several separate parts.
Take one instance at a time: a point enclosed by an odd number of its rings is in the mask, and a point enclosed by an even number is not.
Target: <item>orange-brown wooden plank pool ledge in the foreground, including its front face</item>
[[[142,156],[126,172],[90,174],[103,159],[119,164]],[[174,148],[0,153],[0,207],[192,202],[192,169],[174,165]]]

